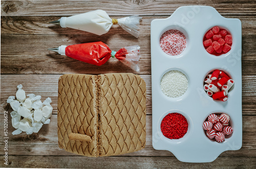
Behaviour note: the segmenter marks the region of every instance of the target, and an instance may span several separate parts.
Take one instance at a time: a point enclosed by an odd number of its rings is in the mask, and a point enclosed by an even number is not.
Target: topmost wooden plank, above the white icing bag
[[[226,15],[255,15],[254,1],[2,1],[2,16],[70,16],[102,9],[109,15],[170,15],[178,7],[206,5]],[[111,4],[111,5],[110,5]]]

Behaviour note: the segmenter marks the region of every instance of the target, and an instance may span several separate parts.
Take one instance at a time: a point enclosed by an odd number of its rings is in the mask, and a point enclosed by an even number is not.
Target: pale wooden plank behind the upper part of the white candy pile
[[[61,75],[1,75],[1,112],[11,111],[6,100],[15,95],[16,87],[23,84],[26,93],[41,95],[42,100],[52,99],[53,113],[57,113],[58,78]],[[146,83],[146,112],[152,114],[151,76],[140,75]],[[242,111],[243,115],[256,115],[256,76],[243,76]]]

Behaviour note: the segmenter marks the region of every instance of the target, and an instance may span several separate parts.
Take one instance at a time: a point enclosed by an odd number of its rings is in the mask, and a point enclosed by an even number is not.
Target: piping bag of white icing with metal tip
[[[120,19],[110,18],[103,10],[90,11],[70,17],[61,17],[58,20],[51,21],[62,28],[73,28],[81,31],[91,32],[96,35],[102,35],[109,32],[112,25],[120,25],[125,31],[136,38],[139,36],[139,25],[141,17],[127,16]]]

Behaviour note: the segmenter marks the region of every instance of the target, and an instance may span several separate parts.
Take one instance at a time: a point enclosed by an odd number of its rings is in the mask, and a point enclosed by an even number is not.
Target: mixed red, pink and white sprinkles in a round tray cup
[[[178,30],[166,31],[160,39],[160,46],[162,50],[172,56],[181,54],[186,47],[186,37]]]

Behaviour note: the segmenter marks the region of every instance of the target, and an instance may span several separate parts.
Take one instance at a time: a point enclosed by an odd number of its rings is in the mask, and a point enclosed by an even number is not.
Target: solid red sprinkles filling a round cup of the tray
[[[161,131],[169,139],[182,138],[187,133],[188,123],[180,113],[169,113],[161,122]]]

